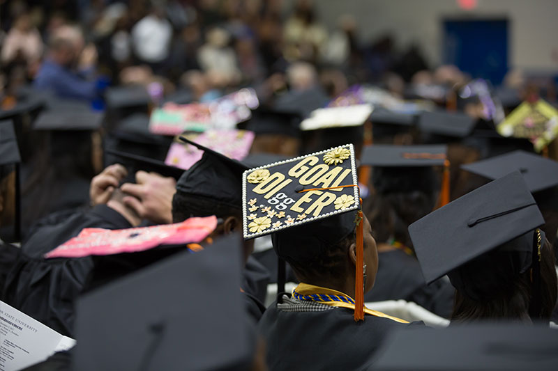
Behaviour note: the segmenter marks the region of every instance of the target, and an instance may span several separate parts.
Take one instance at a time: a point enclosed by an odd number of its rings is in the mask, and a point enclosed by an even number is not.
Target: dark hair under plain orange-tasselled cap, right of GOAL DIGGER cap
[[[436,203],[433,193],[422,191],[376,194],[366,198],[363,210],[372,226],[376,242],[388,242],[394,238],[412,248],[407,228],[411,223],[432,212]]]

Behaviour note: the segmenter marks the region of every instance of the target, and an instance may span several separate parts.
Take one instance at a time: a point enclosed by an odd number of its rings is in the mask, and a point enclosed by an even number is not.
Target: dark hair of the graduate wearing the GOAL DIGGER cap
[[[355,239],[356,235],[352,233],[337,244],[322,248],[319,253],[304,255],[304,258],[297,257],[296,259],[285,257],[285,260],[291,265],[299,281],[312,283],[312,280],[308,279],[312,277],[337,279],[347,273],[344,263],[347,261],[347,251]]]

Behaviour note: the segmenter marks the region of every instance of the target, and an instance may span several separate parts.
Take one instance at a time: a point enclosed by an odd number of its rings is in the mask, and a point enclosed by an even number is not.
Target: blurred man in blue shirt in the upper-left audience
[[[93,79],[96,57],[93,45],[84,47],[79,29],[61,26],[52,35],[47,57],[33,85],[59,97],[93,101],[100,93]]]

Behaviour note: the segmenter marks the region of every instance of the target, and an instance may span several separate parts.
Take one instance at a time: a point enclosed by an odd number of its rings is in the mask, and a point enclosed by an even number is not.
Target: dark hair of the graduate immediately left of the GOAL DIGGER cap
[[[176,191],[176,194],[172,197],[173,223],[179,223],[192,216],[210,215],[215,215],[223,219],[229,216],[236,216],[238,219],[242,219],[240,207],[234,207],[227,203],[220,203],[218,200],[213,200],[204,196],[185,194],[181,191]]]

